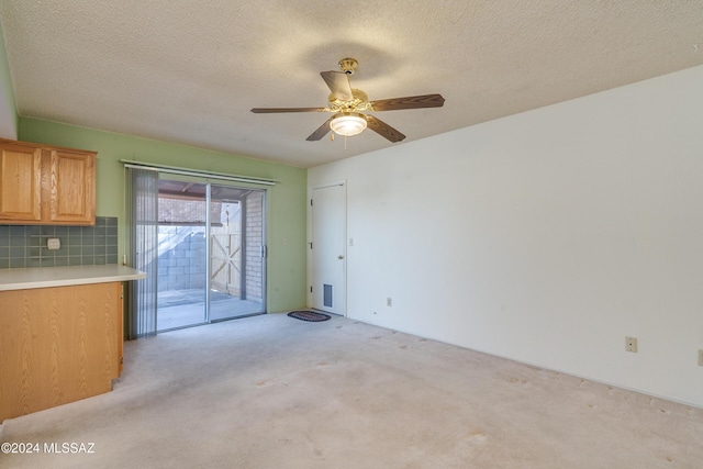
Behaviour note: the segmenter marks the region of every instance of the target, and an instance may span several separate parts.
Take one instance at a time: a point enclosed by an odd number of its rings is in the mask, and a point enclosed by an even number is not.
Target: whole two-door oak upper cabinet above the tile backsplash
[[[0,138],[0,224],[96,224],[96,153]]]

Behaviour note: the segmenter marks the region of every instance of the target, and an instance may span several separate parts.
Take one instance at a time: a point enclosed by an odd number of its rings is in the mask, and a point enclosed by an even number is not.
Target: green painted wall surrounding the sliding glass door
[[[20,118],[19,124],[18,139],[98,152],[96,214],[118,217],[120,259],[126,254],[129,238],[121,159],[278,181],[272,187],[256,186],[267,189],[267,310],[305,306],[305,169],[51,121]]]

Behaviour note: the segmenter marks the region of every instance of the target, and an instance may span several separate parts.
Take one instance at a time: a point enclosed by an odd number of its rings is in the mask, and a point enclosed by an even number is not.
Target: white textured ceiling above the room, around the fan
[[[2,0],[18,112],[310,167],[703,64],[703,0]],[[371,100],[444,108],[305,137],[322,70],[359,62]]]

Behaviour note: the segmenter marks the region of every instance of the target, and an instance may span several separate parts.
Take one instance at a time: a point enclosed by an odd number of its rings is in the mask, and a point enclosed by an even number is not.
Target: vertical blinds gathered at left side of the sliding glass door
[[[156,334],[158,263],[158,172],[127,168],[130,181],[130,258],[146,278],[133,283],[130,295],[130,338]]]

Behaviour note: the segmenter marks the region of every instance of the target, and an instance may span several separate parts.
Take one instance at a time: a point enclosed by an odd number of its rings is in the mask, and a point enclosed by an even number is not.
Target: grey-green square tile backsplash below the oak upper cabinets
[[[49,249],[49,238],[60,247]],[[118,219],[94,226],[0,225],[0,269],[118,264]]]

